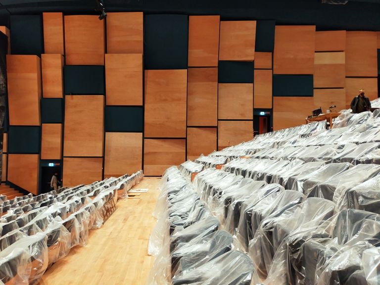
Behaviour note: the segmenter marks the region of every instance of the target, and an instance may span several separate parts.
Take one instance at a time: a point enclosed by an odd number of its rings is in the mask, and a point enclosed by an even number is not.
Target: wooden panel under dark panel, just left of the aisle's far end
[[[142,169],[142,133],[105,133],[104,177]]]

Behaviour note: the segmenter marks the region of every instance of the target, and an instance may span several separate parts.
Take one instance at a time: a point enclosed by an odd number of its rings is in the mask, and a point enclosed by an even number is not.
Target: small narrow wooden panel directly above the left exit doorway
[[[41,159],[61,159],[62,124],[42,124]]]

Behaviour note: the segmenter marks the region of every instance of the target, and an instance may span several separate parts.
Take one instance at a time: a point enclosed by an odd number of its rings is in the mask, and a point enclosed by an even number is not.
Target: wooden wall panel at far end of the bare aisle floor
[[[186,159],[186,140],[145,139],[144,175],[160,176],[172,165]]]

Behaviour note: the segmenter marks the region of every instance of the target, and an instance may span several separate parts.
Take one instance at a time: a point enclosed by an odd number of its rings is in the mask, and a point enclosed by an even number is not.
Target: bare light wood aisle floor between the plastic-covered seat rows
[[[148,188],[140,199],[117,203],[102,228],[90,231],[88,244],[76,246],[42,277],[40,285],[144,285],[154,257],[147,244],[156,220],[152,217],[160,178],[143,178],[135,188]]]

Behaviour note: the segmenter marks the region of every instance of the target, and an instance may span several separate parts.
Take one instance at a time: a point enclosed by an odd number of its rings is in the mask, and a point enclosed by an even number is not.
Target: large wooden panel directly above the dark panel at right
[[[314,73],[315,26],[276,26],[274,74]]]

